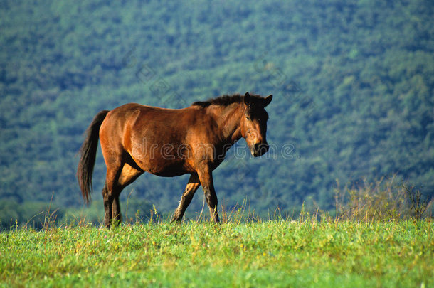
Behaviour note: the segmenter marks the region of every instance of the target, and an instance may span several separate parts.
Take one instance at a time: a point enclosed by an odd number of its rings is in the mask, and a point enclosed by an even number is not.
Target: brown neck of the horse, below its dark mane
[[[240,119],[242,111],[240,103],[233,103],[228,106],[213,105],[209,109],[219,129],[221,129],[222,139],[225,139],[227,143],[235,144],[241,138]]]

